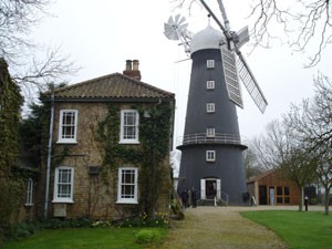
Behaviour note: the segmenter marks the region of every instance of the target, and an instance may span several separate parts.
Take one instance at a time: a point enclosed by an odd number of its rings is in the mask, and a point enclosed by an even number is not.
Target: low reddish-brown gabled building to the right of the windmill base
[[[247,181],[257,205],[298,205],[298,186],[282,176],[280,169],[268,170]]]

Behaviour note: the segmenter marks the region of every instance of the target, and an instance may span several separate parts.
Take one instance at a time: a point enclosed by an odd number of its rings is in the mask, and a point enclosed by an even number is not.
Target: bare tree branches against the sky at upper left
[[[0,0],[0,58],[10,65],[12,79],[19,84],[25,96],[35,96],[43,91],[45,83],[62,82],[63,76],[77,71],[61,48],[46,49],[42,53],[30,39],[31,29],[43,15],[50,0]]]

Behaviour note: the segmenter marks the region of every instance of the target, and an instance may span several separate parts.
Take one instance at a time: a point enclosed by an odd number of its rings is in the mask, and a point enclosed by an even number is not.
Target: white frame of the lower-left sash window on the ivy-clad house
[[[70,179],[69,183],[60,183],[60,173],[62,170],[70,170]],[[70,194],[66,197],[60,196],[61,193],[60,190],[60,185],[69,185],[70,187]],[[73,204],[74,199],[74,168],[73,167],[68,167],[68,166],[60,166],[55,168],[54,173],[54,195],[53,195],[53,203],[60,203],[60,204]]]

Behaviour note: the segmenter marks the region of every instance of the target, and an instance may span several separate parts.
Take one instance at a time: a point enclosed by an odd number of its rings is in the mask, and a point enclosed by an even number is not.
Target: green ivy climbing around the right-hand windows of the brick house
[[[141,211],[153,214],[157,197],[169,176],[168,162],[172,137],[173,106],[167,103],[136,104],[131,108],[139,113],[139,145],[120,144],[121,105],[110,104],[104,121],[98,123],[96,136],[104,151],[102,174],[104,180],[116,179],[117,169],[122,166],[139,168],[138,188]],[[112,177],[110,177],[112,174]],[[168,175],[167,175],[168,174]],[[113,193],[116,193],[116,181],[113,180]],[[170,186],[169,186],[170,187]]]

